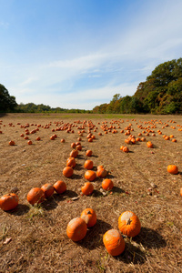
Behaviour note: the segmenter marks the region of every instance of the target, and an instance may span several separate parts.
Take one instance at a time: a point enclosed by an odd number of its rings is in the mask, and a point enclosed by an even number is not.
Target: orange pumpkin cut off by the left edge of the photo
[[[15,193],[6,194],[0,198],[0,208],[3,210],[11,210],[18,205],[18,196]]]

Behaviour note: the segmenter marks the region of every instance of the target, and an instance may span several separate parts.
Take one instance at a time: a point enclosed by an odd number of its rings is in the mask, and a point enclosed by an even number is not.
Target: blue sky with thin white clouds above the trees
[[[0,84],[16,102],[93,109],[182,57],[181,0],[0,0]]]

